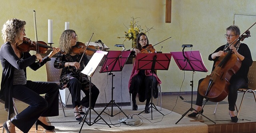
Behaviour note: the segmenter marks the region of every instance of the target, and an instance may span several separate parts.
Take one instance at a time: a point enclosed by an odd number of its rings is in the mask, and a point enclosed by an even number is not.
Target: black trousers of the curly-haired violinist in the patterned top
[[[89,90],[85,90],[81,86],[81,83],[78,79],[76,79],[76,78],[70,79],[67,87],[68,87],[71,97],[72,97],[73,107],[76,107],[76,106],[79,107],[80,105],[83,105],[84,107],[89,107],[90,92],[89,92]],[[82,90],[86,95],[82,100],[80,99],[80,97],[81,97],[80,90]],[[91,94],[91,107],[94,108],[100,91],[95,85],[92,85],[91,93],[92,93]]]

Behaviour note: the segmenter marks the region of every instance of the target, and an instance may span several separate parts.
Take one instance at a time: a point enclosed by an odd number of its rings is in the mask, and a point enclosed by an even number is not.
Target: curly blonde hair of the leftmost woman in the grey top
[[[4,42],[15,43],[16,38],[20,37],[20,31],[26,25],[26,21],[12,18],[7,20],[2,27],[2,38]]]

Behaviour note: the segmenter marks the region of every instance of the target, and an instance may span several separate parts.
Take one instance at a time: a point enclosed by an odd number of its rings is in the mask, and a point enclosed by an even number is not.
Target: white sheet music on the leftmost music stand
[[[97,67],[100,65],[100,62],[106,56],[108,52],[105,51],[96,51],[96,53],[93,54],[92,58],[88,62],[88,64],[84,67],[84,69],[81,71],[81,73],[84,73],[90,77],[94,74]]]

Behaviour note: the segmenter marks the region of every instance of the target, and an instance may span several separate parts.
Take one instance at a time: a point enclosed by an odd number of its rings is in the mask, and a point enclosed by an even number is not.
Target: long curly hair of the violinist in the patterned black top
[[[72,33],[76,34],[74,30],[64,30],[59,40],[60,49],[65,51],[67,54],[71,53],[70,46],[71,46]]]

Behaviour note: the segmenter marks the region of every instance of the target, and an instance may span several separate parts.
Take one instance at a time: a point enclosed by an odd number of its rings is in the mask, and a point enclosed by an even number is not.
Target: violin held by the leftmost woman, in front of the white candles
[[[18,50],[22,52],[29,52],[30,50],[36,51],[36,42],[30,40],[30,38],[23,37],[22,44],[17,46]],[[43,41],[38,41],[38,50],[41,54],[46,54],[48,48],[53,49],[51,46],[48,46]]]

